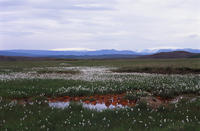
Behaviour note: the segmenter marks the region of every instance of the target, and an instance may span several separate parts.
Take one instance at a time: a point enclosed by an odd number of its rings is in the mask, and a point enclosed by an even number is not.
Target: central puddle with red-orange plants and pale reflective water
[[[96,95],[90,97],[59,97],[49,99],[52,108],[67,108],[71,101],[81,103],[84,108],[102,111],[105,109],[118,109],[135,106],[136,101],[123,99],[124,94],[119,95]]]

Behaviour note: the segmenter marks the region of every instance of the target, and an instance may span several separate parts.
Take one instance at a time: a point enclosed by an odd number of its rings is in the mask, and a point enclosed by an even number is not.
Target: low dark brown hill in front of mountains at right
[[[197,55],[196,53],[190,53],[187,51],[173,51],[173,52],[161,52],[153,55],[146,55],[140,58],[153,58],[153,59],[191,58],[196,55]]]

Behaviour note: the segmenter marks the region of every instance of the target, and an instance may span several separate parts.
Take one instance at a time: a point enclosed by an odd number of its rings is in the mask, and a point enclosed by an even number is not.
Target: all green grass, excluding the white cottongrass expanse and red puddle
[[[146,70],[178,69],[199,70],[200,59],[167,60],[58,60],[0,62],[0,74],[34,71],[39,73],[69,73],[43,70],[46,67],[106,66],[118,69]],[[184,69],[184,70],[182,70]],[[174,70],[173,70],[174,71]],[[130,72],[130,71],[128,71]],[[71,73],[71,72],[70,72]],[[76,74],[76,72],[73,72]],[[72,74],[73,74],[72,73]],[[182,73],[180,73],[182,74]],[[139,91],[139,92],[137,92]],[[117,75],[115,79],[83,81],[62,79],[0,80],[0,130],[50,131],[198,131],[200,130],[200,98],[182,100],[167,107],[151,108],[146,103],[137,106],[97,112],[70,103],[66,109],[50,108],[47,97],[91,96],[95,94],[128,93],[126,99],[146,95],[165,99],[180,95],[200,96],[200,76],[187,75]],[[32,104],[15,104],[13,99],[31,98]],[[92,101],[92,100],[91,100]]]

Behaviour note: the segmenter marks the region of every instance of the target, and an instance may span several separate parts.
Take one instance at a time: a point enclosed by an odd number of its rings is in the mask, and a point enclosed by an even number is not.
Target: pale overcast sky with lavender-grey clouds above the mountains
[[[0,0],[0,50],[200,49],[199,0]]]

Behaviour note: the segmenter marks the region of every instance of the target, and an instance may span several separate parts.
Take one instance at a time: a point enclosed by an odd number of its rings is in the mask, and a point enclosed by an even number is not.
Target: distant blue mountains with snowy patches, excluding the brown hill
[[[59,56],[103,56],[103,55],[126,55],[141,56],[152,55],[160,52],[187,51],[190,53],[200,53],[200,49],[158,49],[144,50],[141,52],[131,50],[96,50],[96,51],[50,51],[50,50],[0,50],[0,56],[25,56],[25,57],[59,57]]]

